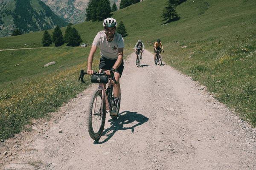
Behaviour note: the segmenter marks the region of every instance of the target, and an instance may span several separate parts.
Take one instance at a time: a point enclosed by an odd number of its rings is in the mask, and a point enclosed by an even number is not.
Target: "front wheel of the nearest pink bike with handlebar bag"
[[[99,140],[104,130],[106,119],[106,105],[103,101],[102,90],[96,89],[89,102],[87,126],[90,137],[93,140]]]

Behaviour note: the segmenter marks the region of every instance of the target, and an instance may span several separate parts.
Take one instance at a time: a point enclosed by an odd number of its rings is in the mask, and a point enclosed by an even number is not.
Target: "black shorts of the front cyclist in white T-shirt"
[[[107,59],[107,58],[100,58],[99,59],[99,70],[100,69],[105,69],[105,70],[110,70],[111,68],[113,68],[114,64],[116,63],[117,59]],[[124,60],[122,60],[121,65],[119,66],[119,68],[116,69],[116,73],[119,73],[120,75],[122,75],[122,72],[124,70]],[[121,76],[120,76],[121,77]]]

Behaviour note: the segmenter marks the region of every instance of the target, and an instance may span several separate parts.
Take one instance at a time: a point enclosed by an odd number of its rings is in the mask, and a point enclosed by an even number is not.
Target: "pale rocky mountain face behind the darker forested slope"
[[[89,0],[42,0],[52,11],[68,23],[82,23],[85,20]],[[110,0],[111,6],[119,7],[121,0]]]

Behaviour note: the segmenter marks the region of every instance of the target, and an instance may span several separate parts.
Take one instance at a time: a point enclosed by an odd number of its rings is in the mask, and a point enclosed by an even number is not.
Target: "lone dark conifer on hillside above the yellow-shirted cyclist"
[[[184,0],[168,0],[167,6],[163,9],[163,21],[170,23],[180,19],[180,16],[175,11],[175,8],[180,4],[180,1]]]

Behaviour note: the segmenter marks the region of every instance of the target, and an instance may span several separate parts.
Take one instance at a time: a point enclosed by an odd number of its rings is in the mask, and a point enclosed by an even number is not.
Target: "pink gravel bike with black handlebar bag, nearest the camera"
[[[109,113],[112,119],[116,119],[119,114],[121,92],[119,94],[119,101],[117,104],[117,114],[111,114],[113,108],[113,85],[117,84],[114,77],[113,70],[110,70],[111,76],[105,73],[94,72],[91,77],[91,82],[99,83],[99,87],[93,92],[89,107],[88,107],[88,117],[87,117],[87,127],[90,137],[93,140],[99,140],[102,136],[104,130],[106,113]],[[81,70],[78,81],[84,82],[84,75],[87,72]],[[108,84],[108,88],[104,88],[104,84]]]

